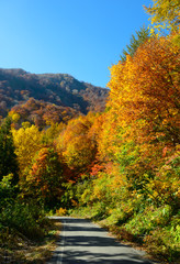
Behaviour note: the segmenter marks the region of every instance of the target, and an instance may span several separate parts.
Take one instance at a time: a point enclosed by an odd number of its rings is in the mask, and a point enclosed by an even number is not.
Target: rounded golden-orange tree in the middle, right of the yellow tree
[[[94,114],[89,113],[69,121],[57,140],[65,162],[72,168],[85,168],[94,158],[97,145],[89,134],[93,120]]]

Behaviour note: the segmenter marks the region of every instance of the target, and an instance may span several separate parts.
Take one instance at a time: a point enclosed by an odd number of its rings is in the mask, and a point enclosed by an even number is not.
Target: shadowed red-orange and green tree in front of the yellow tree
[[[65,182],[61,160],[54,148],[43,147],[34,158],[26,178],[23,182],[23,193],[33,196],[45,206],[52,208],[61,197]]]

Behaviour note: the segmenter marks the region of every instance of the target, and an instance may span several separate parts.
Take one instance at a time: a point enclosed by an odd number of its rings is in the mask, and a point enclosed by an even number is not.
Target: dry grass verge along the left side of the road
[[[0,263],[45,264],[53,255],[61,223],[49,220],[47,234],[41,240],[30,240],[15,230],[4,230],[7,242],[0,246]]]

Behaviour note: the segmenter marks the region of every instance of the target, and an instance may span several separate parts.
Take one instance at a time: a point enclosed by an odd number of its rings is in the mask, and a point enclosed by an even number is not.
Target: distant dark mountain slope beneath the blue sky
[[[103,111],[109,90],[79,81],[67,74],[30,74],[0,68],[0,114],[30,98],[69,107],[81,113]]]

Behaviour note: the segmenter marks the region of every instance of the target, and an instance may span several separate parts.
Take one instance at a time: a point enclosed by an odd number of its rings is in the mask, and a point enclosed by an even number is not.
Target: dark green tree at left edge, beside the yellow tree
[[[7,118],[0,127],[0,180],[3,176],[13,174],[11,183],[19,182],[19,166],[11,133],[11,119]]]

